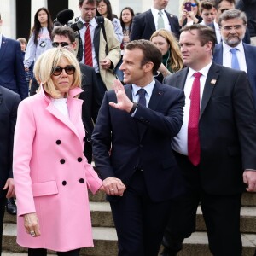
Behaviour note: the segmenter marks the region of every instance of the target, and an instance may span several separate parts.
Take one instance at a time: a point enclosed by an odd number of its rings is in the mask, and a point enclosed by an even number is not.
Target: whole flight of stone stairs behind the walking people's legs
[[[110,207],[105,201],[105,195],[100,192],[90,195],[90,210],[93,225],[95,247],[83,248],[81,255],[86,256],[115,256],[117,255],[117,236],[113,227]],[[201,207],[197,210],[197,231],[183,243],[183,251],[178,256],[210,256],[207,247],[205,223]],[[241,233],[243,256],[253,256],[256,248],[256,193],[245,193],[242,196]],[[5,214],[3,225],[2,256],[25,256],[26,248],[19,247],[16,240],[16,220],[14,216]],[[49,252],[49,255],[52,252]],[[131,255],[132,256],[132,255]],[[227,255],[231,256],[231,255]]]

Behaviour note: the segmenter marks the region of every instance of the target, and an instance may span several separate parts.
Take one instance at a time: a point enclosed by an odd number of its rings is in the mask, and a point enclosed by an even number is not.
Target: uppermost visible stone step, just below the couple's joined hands
[[[106,195],[102,191],[99,191],[96,195],[92,195],[89,191],[89,199],[90,201],[106,201]],[[243,193],[241,197],[241,206],[256,207],[256,193]]]

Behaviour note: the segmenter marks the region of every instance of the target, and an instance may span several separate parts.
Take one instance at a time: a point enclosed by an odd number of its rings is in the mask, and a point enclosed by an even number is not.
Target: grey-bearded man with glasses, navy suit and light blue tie
[[[213,61],[225,67],[234,67],[231,53],[232,49],[234,49],[239,66],[237,68],[247,73],[256,104],[256,69],[254,68],[256,47],[242,43],[247,27],[247,16],[240,10],[230,9],[225,11],[223,15],[220,15],[218,24],[223,42],[215,46]]]

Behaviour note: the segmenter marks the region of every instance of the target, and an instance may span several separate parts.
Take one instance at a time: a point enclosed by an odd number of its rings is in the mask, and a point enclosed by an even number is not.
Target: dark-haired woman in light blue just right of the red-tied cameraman
[[[104,18],[111,20],[114,33],[121,44],[123,41],[122,27],[120,20],[113,17],[112,7],[109,0],[97,0],[96,16],[103,16]]]

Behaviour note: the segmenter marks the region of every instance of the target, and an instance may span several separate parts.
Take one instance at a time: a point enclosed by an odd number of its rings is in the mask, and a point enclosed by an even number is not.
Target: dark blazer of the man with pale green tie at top
[[[179,32],[180,28],[179,28],[177,16],[172,15],[168,12],[166,12],[166,15],[169,20],[172,33],[178,39],[180,34]],[[130,40],[131,41],[138,40],[138,39],[149,40],[151,35],[155,31],[156,31],[156,27],[154,25],[154,17],[152,15],[151,9],[148,9],[146,12],[143,12],[140,15],[135,15],[133,17],[132,25],[131,25]]]

